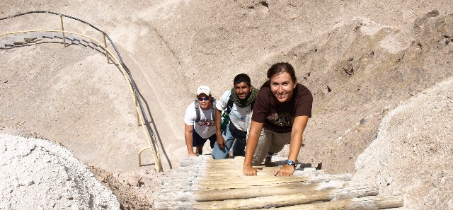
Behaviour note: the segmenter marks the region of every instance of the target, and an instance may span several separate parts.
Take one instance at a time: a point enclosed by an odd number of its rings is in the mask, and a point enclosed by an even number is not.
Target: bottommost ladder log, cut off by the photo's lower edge
[[[359,197],[343,199],[318,204],[303,204],[275,208],[275,210],[338,210],[338,209],[392,209],[403,207],[402,195],[379,195],[371,197]]]

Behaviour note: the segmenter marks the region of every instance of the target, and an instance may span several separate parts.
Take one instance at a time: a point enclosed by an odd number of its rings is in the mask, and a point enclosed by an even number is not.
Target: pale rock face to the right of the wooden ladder
[[[353,180],[403,194],[405,209],[453,209],[452,89],[449,78],[389,112],[358,156]]]

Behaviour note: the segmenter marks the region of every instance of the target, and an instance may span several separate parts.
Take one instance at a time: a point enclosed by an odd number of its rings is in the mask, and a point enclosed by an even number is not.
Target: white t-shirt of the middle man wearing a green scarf
[[[231,90],[225,91],[222,97],[217,102],[217,110],[223,111],[226,110],[226,105],[228,104],[229,95]],[[246,132],[248,127],[248,121],[250,121],[251,109],[250,106],[239,107],[236,106],[236,103],[233,103],[231,107],[231,112],[229,112],[229,119],[234,124],[234,127],[237,129]]]

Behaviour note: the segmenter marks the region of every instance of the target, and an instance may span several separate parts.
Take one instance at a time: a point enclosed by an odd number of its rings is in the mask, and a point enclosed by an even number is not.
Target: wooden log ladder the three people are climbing
[[[277,165],[285,161],[274,162]],[[243,157],[183,158],[154,194],[154,209],[389,209],[402,195],[379,196],[376,185],[359,185],[350,174],[329,175],[297,167],[292,177],[274,176],[278,166],[260,165],[244,176]]]

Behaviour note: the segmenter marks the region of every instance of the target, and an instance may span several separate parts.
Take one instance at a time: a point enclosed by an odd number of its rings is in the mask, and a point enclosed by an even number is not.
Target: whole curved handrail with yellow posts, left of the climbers
[[[137,95],[139,95],[139,92],[138,92],[138,89],[137,89],[137,85],[135,84],[134,79],[132,78],[132,74],[130,73],[130,70],[127,68],[126,64],[123,62],[120,52],[118,52],[117,48],[115,47],[115,44],[113,44],[113,41],[110,39],[108,34],[103,32],[103,30],[100,30],[99,28],[96,28],[94,25],[91,25],[90,23],[88,23],[86,21],[82,21],[79,18],[74,18],[74,17],[71,17],[71,16],[67,16],[67,15],[64,15],[64,14],[61,14],[61,13],[55,13],[55,12],[52,12],[52,11],[29,11],[29,12],[26,12],[26,13],[18,13],[18,14],[13,15],[13,16],[0,18],[0,21],[3,21],[3,20],[8,19],[8,18],[15,18],[15,17],[18,17],[18,16],[31,14],[31,13],[50,13],[52,15],[60,16],[60,21],[62,23],[62,30],[23,30],[23,31],[4,33],[4,34],[1,34],[0,37],[4,36],[4,35],[11,35],[11,34],[16,34],[16,33],[28,33],[28,32],[37,32],[37,31],[47,31],[47,32],[56,32],[56,33],[59,32],[59,33],[63,34],[64,47],[66,47],[65,33],[86,37],[86,38],[88,38],[90,40],[93,40],[93,41],[97,42],[99,46],[102,46],[102,43],[100,41],[96,40],[93,37],[89,37],[88,35],[83,35],[83,34],[80,34],[80,33],[65,31],[62,17],[71,18],[71,19],[74,19],[74,20],[79,21],[81,23],[85,23],[86,25],[91,26],[91,28],[94,28],[94,29],[98,30],[98,32],[101,32],[103,34],[103,37],[104,37],[104,47],[103,48],[105,50],[105,56],[107,57],[107,60],[108,60],[108,54],[110,54],[113,57],[113,59],[115,60],[115,62],[117,62],[117,64],[120,64],[120,70],[122,71],[123,76],[125,76],[125,78],[126,78],[126,80],[128,82],[128,85],[130,87],[130,91],[132,93],[132,97],[134,98],[134,104],[135,104],[136,111],[137,111],[137,123],[139,124],[139,126],[140,125],[144,125],[143,132],[144,132],[144,135],[147,138],[148,147],[142,148],[139,151],[139,166],[142,165],[141,153],[144,150],[149,148],[151,150],[151,154],[152,154],[153,159],[154,159],[155,169],[156,169],[156,171],[161,172],[162,171],[162,165],[161,165],[161,156],[160,156],[160,153],[159,153],[159,146],[156,143],[156,138],[155,138],[154,132],[152,131],[151,126],[149,125],[146,112],[144,112],[142,101],[137,96]],[[110,49],[108,49],[107,43],[105,42],[105,37],[107,37],[108,41],[110,42],[110,45],[112,45],[113,49],[115,49],[115,52],[117,54],[117,57],[118,57],[119,61],[115,57],[115,55],[110,52]],[[142,122],[142,123],[140,123],[140,122]]]

